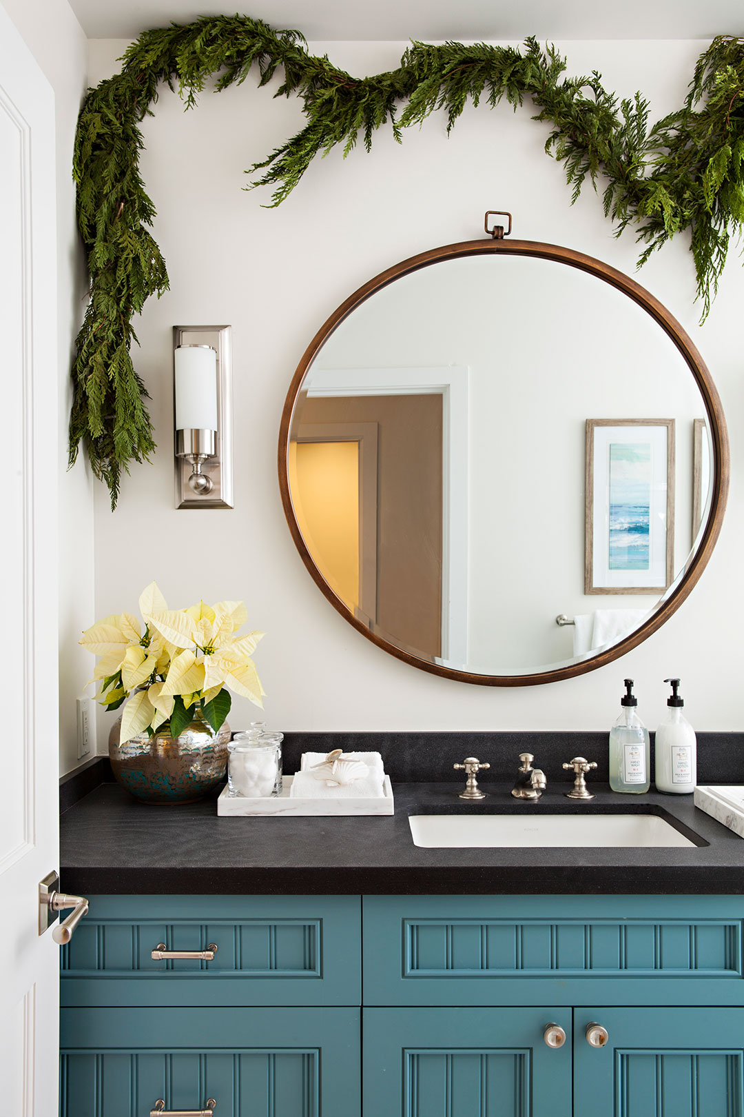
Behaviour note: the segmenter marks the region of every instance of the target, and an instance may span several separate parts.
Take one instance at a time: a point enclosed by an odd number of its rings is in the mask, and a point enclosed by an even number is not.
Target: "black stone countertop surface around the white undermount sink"
[[[62,814],[61,887],[81,895],[744,892],[744,839],[692,795],[618,795],[598,784],[591,803],[572,803],[569,785],[555,782],[528,804],[510,799],[511,783],[482,782],[489,798],[465,803],[462,782],[394,780],[395,815],[378,818],[218,818],[216,795],[149,806],[104,783]],[[421,849],[408,827],[416,813],[618,811],[660,814],[702,844]]]

